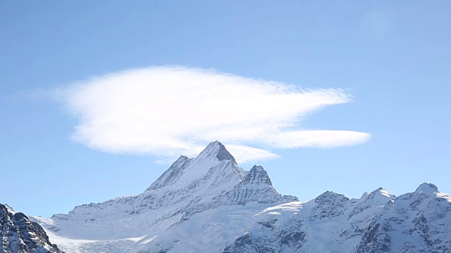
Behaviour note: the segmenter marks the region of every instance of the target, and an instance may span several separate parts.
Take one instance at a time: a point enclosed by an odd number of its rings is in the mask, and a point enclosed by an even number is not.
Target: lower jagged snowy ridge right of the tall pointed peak
[[[431,183],[399,197],[383,188],[358,200],[326,192],[280,219],[286,207],[264,210],[268,221],[223,252],[451,252],[451,197]]]

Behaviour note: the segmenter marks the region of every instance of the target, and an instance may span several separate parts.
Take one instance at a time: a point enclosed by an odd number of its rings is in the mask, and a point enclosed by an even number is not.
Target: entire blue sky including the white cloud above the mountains
[[[215,140],[299,200],[451,193],[450,10],[0,1],[0,202],[51,216],[136,195]]]

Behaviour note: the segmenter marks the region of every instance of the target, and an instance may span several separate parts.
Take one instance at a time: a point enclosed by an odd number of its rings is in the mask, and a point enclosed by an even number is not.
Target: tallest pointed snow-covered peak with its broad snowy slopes
[[[245,233],[255,213],[292,201],[262,167],[241,169],[215,141],[195,159],[178,158],[140,195],[35,220],[66,252],[214,252]]]

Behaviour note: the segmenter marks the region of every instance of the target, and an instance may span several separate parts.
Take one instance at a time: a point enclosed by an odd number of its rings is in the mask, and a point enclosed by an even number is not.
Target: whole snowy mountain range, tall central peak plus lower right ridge
[[[140,195],[33,219],[66,252],[450,252],[450,209],[427,183],[400,197],[378,188],[299,202],[215,141]]]

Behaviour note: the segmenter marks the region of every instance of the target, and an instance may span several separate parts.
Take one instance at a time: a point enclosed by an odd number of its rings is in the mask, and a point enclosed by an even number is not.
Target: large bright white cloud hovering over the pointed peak
[[[359,131],[307,130],[305,115],[350,102],[338,89],[305,91],[280,82],[187,67],[149,67],[63,89],[78,117],[72,138],[109,153],[163,158],[197,155],[221,141],[237,161],[278,157],[270,150],[357,145]]]

